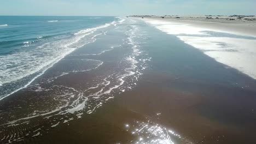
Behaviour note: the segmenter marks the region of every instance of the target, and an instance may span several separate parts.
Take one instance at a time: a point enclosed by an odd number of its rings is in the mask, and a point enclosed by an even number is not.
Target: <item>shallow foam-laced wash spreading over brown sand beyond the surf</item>
[[[115,49],[126,49],[127,53],[123,53],[121,60],[113,62],[115,64],[113,69],[100,70],[105,67],[105,63],[96,58],[72,56],[73,58],[62,59],[51,68],[46,74],[49,77],[40,77],[30,87],[24,89],[28,97],[20,98],[24,103],[18,106],[21,107],[20,109],[13,109],[10,106],[7,113],[0,112],[4,117],[0,126],[3,128],[0,138],[8,143],[43,135],[51,128],[81,118],[83,114],[94,113],[118,94],[135,87],[138,77],[148,68],[147,62],[150,58],[139,49],[136,40],[142,35],[139,34],[138,27],[129,28],[130,30],[125,33],[123,44],[110,45],[100,53],[87,55],[98,57]],[[101,36],[107,37],[107,35]],[[98,74],[95,76],[96,72]],[[86,81],[77,79],[76,83],[71,85],[68,80],[74,75],[83,75],[80,78],[86,77]],[[44,123],[43,127],[42,123]]]

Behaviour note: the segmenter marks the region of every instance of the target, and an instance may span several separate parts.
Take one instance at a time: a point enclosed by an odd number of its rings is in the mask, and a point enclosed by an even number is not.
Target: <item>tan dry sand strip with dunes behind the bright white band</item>
[[[211,17],[211,19],[206,17]],[[144,19],[187,24],[193,27],[212,29],[213,31],[256,37],[256,16],[247,16],[241,19],[238,16],[165,16],[164,19],[160,16],[144,16]]]

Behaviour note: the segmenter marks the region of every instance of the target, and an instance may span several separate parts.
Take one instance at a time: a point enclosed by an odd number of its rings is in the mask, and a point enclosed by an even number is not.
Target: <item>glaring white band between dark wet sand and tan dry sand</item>
[[[202,50],[206,55],[216,59],[216,61],[235,68],[251,76],[253,79],[256,79],[256,67],[253,63],[256,62],[255,39],[214,37],[214,35],[207,34],[205,31],[222,31],[161,20],[146,19],[145,21],[168,34],[187,34],[187,36],[178,36],[178,38]],[[191,34],[207,35],[207,37],[194,37],[190,36]]]

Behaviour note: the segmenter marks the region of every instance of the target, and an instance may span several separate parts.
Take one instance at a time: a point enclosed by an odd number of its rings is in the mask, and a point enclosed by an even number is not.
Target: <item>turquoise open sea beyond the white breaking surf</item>
[[[0,55],[20,51],[24,44],[68,37],[85,28],[110,23],[115,17],[0,16]]]

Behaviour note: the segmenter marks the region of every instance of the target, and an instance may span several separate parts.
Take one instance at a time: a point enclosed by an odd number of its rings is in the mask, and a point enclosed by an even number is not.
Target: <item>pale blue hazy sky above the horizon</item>
[[[0,0],[0,15],[256,15],[256,0]]]

